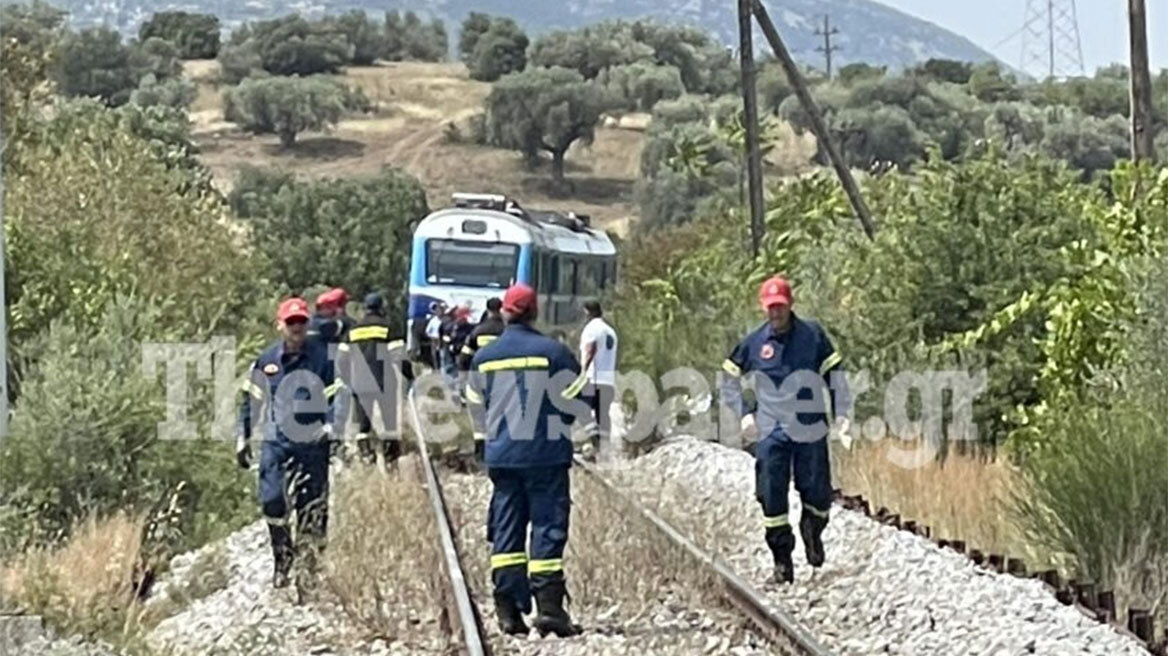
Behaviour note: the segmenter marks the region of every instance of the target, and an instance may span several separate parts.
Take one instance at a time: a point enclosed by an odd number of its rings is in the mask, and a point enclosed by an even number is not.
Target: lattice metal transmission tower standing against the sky
[[[1027,0],[1021,68],[1047,77],[1086,72],[1075,0]]]

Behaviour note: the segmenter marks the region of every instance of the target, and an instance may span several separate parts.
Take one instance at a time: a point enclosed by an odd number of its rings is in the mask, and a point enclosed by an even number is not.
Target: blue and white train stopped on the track
[[[588,217],[524,210],[501,195],[454,194],[453,203],[413,231],[411,348],[413,322],[424,321],[434,301],[470,306],[478,321],[489,299],[524,282],[540,294],[540,326],[566,329],[580,321],[584,301],[617,280],[617,249]]]

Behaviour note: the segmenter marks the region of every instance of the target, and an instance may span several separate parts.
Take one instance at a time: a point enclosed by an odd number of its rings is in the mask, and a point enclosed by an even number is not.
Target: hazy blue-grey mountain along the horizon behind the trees
[[[227,29],[244,21],[271,19],[292,12],[314,18],[348,9],[364,9],[380,19],[387,9],[412,9],[420,15],[444,19],[452,36],[466,14],[473,11],[512,16],[533,35],[609,19],[652,16],[710,30],[728,46],[738,40],[735,0],[50,1],[69,9],[76,26],[104,22],[127,34],[135,34],[142,20],[164,9],[211,13],[220,16]],[[872,0],[766,0],[766,7],[795,58],[818,68],[823,65],[823,55],[816,51],[822,46],[822,37],[815,35],[815,29],[822,27],[825,15],[829,15],[833,27],[840,30],[833,41],[833,46],[840,48],[835,53],[839,65],[865,62],[901,69],[932,57],[973,62],[994,58],[962,36]],[[758,34],[756,40],[762,43],[762,35]]]

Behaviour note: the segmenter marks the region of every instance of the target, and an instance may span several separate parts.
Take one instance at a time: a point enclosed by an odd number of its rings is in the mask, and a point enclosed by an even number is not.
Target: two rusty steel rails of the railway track
[[[410,392],[408,399],[410,406],[410,418],[415,427],[415,437],[418,442],[419,460],[423,468],[423,477],[426,482],[431,509],[438,524],[438,539],[443,551],[443,565],[447,574],[451,598],[447,613],[454,615],[454,621],[449,622],[451,627],[457,627],[458,640],[463,654],[471,656],[491,654],[491,641],[488,630],[482,621],[482,613],[475,602],[474,589],[467,577],[467,568],[463,566],[458,539],[452,528],[451,509],[446,504],[442,480],[429,458],[425,439],[423,439],[422,416],[418,405]],[[820,644],[806,629],[783,609],[770,602],[765,594],[756,589],[742,577],[735,573],[723,560],[711,556],[681,531],[662,519],[658,514],[639,503],[632,496],[625,494],[617,486],[610,482],[592,465],[580,459],[576,460],[576,466],[585,473],[585,477],[604,489],[605,494],[619,504],[633,511],[652,526],[658,536],[665,538],[670,546],[684,552],[691,564],[702,573],[717,582],[718,593],[767,641],[778,654],[785,656],[832,656],[822,644]],[[588,630],[588,627],[585,627]],[[776,652],[776,651],[772,651]]]

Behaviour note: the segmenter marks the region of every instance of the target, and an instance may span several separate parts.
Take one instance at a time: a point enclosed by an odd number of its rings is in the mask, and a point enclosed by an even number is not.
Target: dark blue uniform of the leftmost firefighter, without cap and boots
[[[288,495],[299,535],[324,537],[327,531],[328,438],[342,382],[327,344],[306,340],[299,353],[287,353],[280,340],[256,358],[245,386],[238,431],[251,438],[257,425],[263,428],[259,504],[279,559],[292,549]]]

